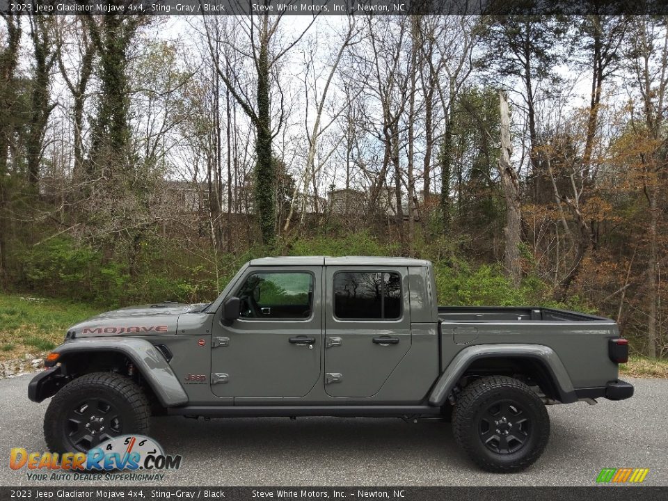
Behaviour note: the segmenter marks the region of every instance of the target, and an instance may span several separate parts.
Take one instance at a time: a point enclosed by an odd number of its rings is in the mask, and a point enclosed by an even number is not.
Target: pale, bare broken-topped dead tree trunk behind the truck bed
[[[520,210],[520,189],[518,175],[511,164],[512,143],[510,139],[510,110],[508,100],[503,92],[499,93],[501,113],[501,154],[499,157],[499,174],[506,199],[506,248],[504,264],[508,278],[516,287],[522,279],[520,266],[520,243],[522,239],[522,213]]]

